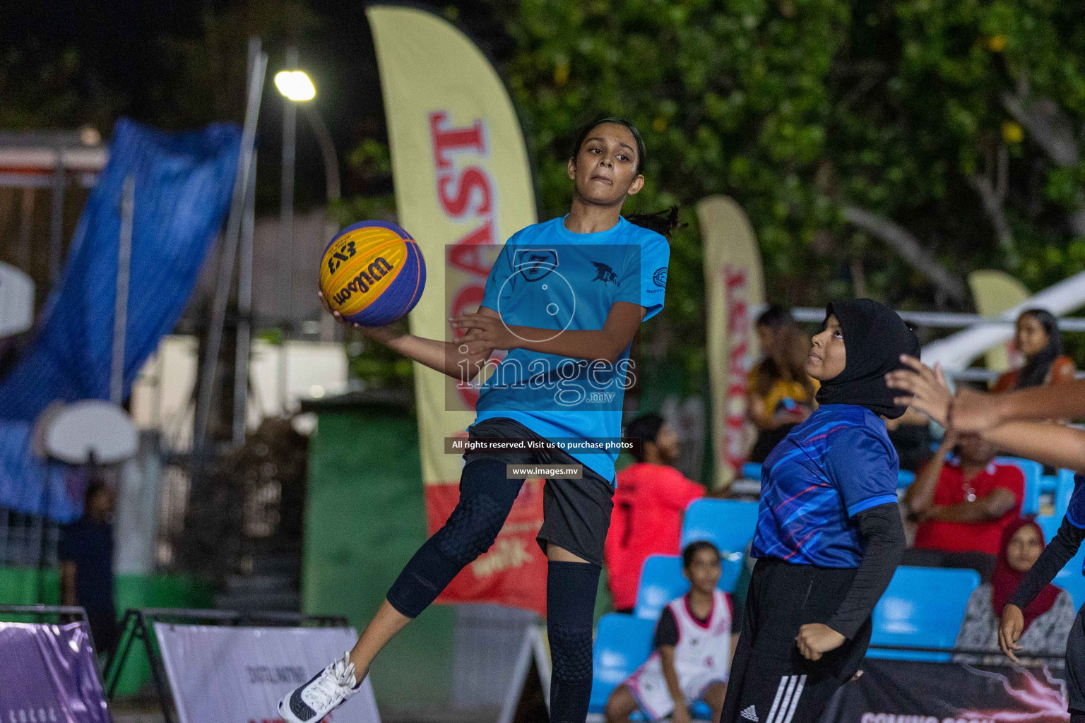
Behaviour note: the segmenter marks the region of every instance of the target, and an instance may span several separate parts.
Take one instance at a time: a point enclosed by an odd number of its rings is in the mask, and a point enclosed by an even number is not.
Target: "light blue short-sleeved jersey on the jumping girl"
[[[669,255],[666,238],[624,218],[599,233],[573,233],[556,218],[509,238],[482,306],[508,326],[553,330],[554,336],[602,328],[615,301],[644,307],[647,321],[663,308]],[[615,364],[513,349],[483,384],[477,419],[515,419],[556,442],[614,441],[625,388],[639,372],[628,347]],[[566,451],[613,483],[617,450]]]

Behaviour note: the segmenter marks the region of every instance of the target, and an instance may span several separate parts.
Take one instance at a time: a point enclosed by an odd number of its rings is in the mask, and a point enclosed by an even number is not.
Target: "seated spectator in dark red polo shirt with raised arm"
[[[958,460],[947,463],[955,446]],[[990,580],[1003,530],[1021,516],[1024,500],[1024,475],[1013,465],[995,464],[995,452],[975,435],[946,432],[904,495],[919,526],[903,565],[970,567]]]

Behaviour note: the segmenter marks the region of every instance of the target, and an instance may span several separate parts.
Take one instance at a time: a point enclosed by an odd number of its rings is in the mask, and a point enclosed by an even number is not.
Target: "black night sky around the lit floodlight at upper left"
[[[201,102],[200,92],[176,63],[170,48],[188,43],[192,55],[208,44],[204,17],[247,10],[273,15],[284,3],[276,0],[203,2],[183,0],[8,0],[0,3],[0,102],[26,106],[39,118],[26,127],[0,124],[0,130],[51,127],[75,129],[92,125],[107,137],[118,116],[173,130],[195,128],[210,120],[242,121],[243,90],[233,113]],[[296,34],[299,66],[317,87],[316,108],[336,147],[343,195],[391,193],[391,178],[352,172],[347,158],[366,139],[386,141],[384,109],[365,3],[343,0],[294,0],[307,7],[316,27]],[[472,35],[498,62],[511,52],[505,29],[493,10],[478,0],[442,2],[435,8]],[[244,30],[235,51],[243,57]],[[267,80],[260,108],[258,209],[272,212],[279,204],[279,168],[283,101],[272,78],[283,67],[284,34],[265,37]],[[74,62],[73,62],[74,59]],[[67,64],[67,65],[65,65]],[[50,68],[72,67],[53,86],[41,77]],[[55,73],[53,74],[56,75]],[[73,96],[60,113],[41,112],[61,95]],[[10,117],[11,114],[9,114]],[[227,115],[228,117],[222,117]],[[44,120],[40,117],[44,116]],[[232,117],[229,117],[232,116]],[[324,203],[324,171],[317,141],[303,114],[297,121],[295,199],[298,210]],[[22,125],[22,124],[18,124]]]

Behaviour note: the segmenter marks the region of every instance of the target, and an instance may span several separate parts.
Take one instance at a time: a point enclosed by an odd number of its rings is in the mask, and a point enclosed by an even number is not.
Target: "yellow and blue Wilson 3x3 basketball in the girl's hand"
[[[362,326],[391,324],[414,308],[423,288],[422,251],[395,223],[354,223],[324,249],[320,291],[348,321]]]

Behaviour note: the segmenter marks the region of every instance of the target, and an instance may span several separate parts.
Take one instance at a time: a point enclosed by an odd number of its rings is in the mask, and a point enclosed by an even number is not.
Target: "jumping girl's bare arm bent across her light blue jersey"
[[[487,313],[484,313],[487,312]],[[528,349],[539,353],[569,357],[570,359],[602,360],[614,363],[633,343],[643,320],[644,307],[630,301],[615,301],[600,330],[572,330],[554,332],[552,328],[508,326],[500,315],[487,307],[478,313],[468,313],[450,319],[452,328],[465,328],[460,339],[468,345],[469,353],[485,349]]]

